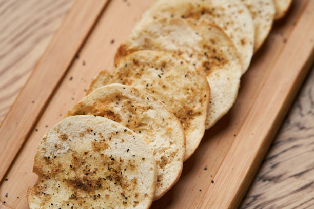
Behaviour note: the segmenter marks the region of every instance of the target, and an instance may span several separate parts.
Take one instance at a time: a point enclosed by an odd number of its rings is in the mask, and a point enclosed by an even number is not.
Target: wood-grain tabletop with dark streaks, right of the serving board
[[[241,208],[314,208],[314,66]]]

